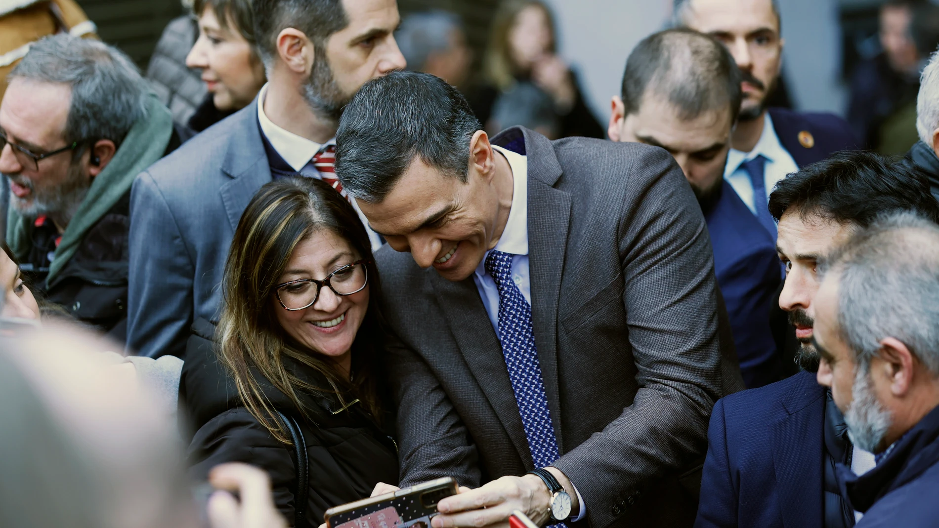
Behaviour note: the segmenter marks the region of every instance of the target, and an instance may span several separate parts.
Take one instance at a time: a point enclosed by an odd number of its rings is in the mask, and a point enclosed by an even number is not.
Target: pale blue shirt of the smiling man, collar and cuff
[[[505,229],[502,230],[496,247],[489,251],[497,250],[515,255],[512,257],[512,279],[531,306],[531,275],[528,258],[528,158],[497,145],[492,145],[492,148],[508,160],[509,167],[512,169],[513,187],[509,219],[505,222]],[[483,307],[489,315],[492,328],[499,336],[499,288],[496,287],[496,281],[485,271],[485,258],[489,256],[489,251],[485,252],[482,262],[476,266],[472,279],[476,282],[476,289],[479,290],[479,296],[483,299]],[[537,345],[538,343],[535,343],[535,346]],[[574,486],[577,502],[580,505],[577,517],[571,519],[576,522],[587,515],[587,505],[580,496],[577,485],[573,482],[571,484]]]

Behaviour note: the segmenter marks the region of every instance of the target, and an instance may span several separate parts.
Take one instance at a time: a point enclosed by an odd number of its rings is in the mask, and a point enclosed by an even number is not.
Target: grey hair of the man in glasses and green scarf
[[[133,124],[146,118],[149,88],[140,70],[126,54],[98,40],[68,34],[41,38],[9,79],[71,87],[69,143],[107,139],[120,146]]]

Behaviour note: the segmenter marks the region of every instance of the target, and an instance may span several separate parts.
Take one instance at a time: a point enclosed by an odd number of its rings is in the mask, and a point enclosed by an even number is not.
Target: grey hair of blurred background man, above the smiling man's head
[[[421,71],[431,54],[450,49],[451,33],[462,28],[460,18],[454,13],[434,9],[408,15],[394,38],[408,61],[408,68]]]

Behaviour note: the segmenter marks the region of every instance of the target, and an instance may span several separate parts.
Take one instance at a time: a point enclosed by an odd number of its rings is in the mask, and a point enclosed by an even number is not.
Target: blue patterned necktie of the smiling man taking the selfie
[[[558,441],[534,346],[531,306],[512,279],[512,257],[510,253],[489,251],[485,271],[499,289],[499,340],[531,449],[531,461],[534,467],[547,467],[560,457]]]

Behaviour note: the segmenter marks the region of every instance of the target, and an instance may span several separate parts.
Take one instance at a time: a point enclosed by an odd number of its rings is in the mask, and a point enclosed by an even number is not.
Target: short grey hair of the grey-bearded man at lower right
[[[909,212],[882,217],[821,272],[839,274],[839,332],[861,369],[892,337],[939,376],[939,225]]]

